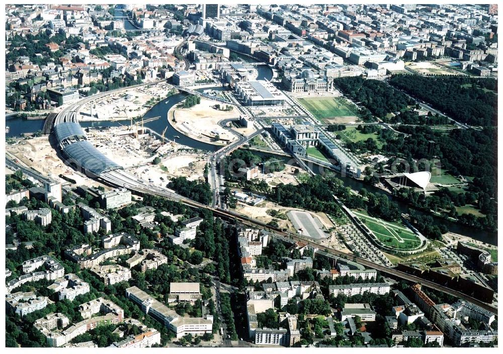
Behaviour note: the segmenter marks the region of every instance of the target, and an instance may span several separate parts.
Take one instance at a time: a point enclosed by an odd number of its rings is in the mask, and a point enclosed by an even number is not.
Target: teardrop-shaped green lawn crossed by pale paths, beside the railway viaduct
[[[408,250],[421,245],[421,240],[405,225],[377,219],[361,211],[353,213],[388,247]]]

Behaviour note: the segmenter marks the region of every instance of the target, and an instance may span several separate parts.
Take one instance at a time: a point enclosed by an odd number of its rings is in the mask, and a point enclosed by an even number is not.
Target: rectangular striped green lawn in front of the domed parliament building
[[[320,122],[336,117],[356,117],[357,107],[342,97],[305,97],[297,99]]]

